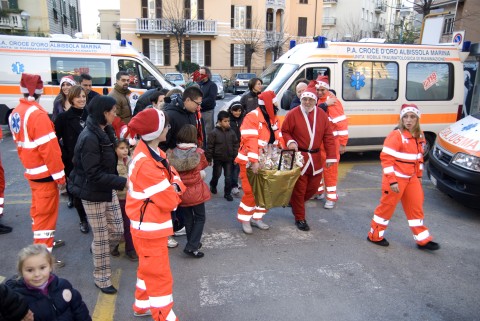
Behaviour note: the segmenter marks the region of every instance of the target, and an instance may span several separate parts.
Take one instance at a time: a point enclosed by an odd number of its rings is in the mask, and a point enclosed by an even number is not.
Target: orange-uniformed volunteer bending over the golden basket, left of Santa
[[[258,173],[258,155],[268,144],[283,146],[278,119],[276,116],[277,98],[273,91],[258,95],[258,107],[249,112],[240,126],[240,148],[235,162],[240,165],[243,197],[237,211],[237,219],[242,223],[243,232],[252,234],[252,226],[267,230],[269,226],[262,220],[267,210],[255,204],[252,187],[247,178],[247,163],[252,172]]]

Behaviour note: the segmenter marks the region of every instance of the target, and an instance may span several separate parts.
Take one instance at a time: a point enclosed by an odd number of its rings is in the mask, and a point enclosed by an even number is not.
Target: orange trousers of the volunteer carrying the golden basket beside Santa
[[[247,177],[247,166],[244,164],[240,164],[240,180],[242,181],[243,197],[238,206],[237,219],[240,222],[250,222],[251,218],[261,220],[267,214],[267,209],[255,204],[252,186]]]

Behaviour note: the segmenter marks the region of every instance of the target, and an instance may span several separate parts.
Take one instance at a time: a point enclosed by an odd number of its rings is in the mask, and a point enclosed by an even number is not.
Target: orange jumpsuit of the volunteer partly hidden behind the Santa
[[[318,103],[324,103],[328,98],[335,97],[331,92],[324,95],[319,99]],[[335,148],[336,148],[336,160],[337,162],[332,166],[326,166],[327,156],[325,154],[325,148],[322,145],[321,157],[323,164],[323,180],[318,187],[317,194],[324,193],[324,185],[327,189],[327,200],[336,202],[338,200],[337,195],[337,179],[338,179],[338,164],[340,162],[340,145],[346,146],[348,142],[348,121],[343,111],[343,106],[340,101],[336,101],[335,104],[327,107],[328,120],[332,127],[333,136],[335,136]]]

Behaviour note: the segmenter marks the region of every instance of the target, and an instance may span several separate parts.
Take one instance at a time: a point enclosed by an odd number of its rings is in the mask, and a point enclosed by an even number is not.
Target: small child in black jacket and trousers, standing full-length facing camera
[[[225,176],[224,197],[233,201],[232,197],[232,165],[238,153],[238,138],[230,128],[230,115],[222,110],[218,113],[217,126],[210,132],[207,139],[206,156],[208,163],[213,160],[212,180],[210,191],[217,194],[217,183],[220,175]]]

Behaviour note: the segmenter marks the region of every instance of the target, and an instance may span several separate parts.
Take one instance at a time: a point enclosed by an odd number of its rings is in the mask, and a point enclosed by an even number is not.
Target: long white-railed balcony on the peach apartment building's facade
[[[172,19],[148,18],[137,18],[135,33],[171,35],[176,22],[181,23],[181,28],[185,29],[185,35],[216,36],[218,34],[216,20],[184,19],[172,21]]]

